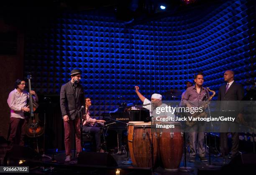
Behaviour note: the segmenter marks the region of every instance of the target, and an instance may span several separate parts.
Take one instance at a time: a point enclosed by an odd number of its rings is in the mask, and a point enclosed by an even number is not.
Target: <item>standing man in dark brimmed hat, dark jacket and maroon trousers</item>
[[[79,69],[73,69],[70,72],[71,80],[62,85],[60,91],[61,114],[64,120],[65,162],[69,162],[72,157],[70,140],[71,127],[74,127],[76,134],[77,156],[82,152],[79,112],[85,101],[84,89],[82,85],[79,84],[81,74],[82,72]],[[84,110],[82,110],[82,113],[85,114]]]

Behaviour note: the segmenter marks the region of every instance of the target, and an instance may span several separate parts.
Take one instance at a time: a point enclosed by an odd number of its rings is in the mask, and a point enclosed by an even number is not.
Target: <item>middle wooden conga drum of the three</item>
[[[150,144],[153,140],[154,165],[157,160],[158,144],[156,133],[153,134],[153,139],[151,138],[151,122],[134,124],[133,133],[133,154],[137,166],[152,167]]]

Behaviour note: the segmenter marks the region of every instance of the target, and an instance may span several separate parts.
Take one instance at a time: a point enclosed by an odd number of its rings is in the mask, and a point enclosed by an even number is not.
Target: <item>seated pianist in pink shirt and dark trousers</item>
[[[100,125],[104,124],[106,121],[105,120],[97,120],[97,119],[92,119],[90,117],[90,111],[89,107],[92,105],[92,101],[90,98],[86,97],[85,98],[85,109],[86,109],[86,115],[84,114],[84,119],[83,119],[83,132],[84,133],[89,133],[93,137],[95,137],[96,141],[96,151],[101,152],[100,145]]]

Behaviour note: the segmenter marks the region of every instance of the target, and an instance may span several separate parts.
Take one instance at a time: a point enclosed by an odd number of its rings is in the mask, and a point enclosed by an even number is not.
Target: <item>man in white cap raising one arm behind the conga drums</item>
[[[144,108],[148,109],[149,112],[150,112],[150,116],[151,117],[154,117],[153,120],[156,120],[156,117],[160,117],[160,118],[166,118],[166,117],[173,117],[173,119],[175,119],[175,115],[174,113],[172,112],[172,110],[166,110],[164,112],[161,112],[160,114],[159,113],[156,113],[156,108],[157,107],[166,107],[167,104],[164,104],[162,102],[162,96],[160,94],[153,94],[151,96],[151,101],[149,101],[148,99],[146,99],[146,97],[144,97],[140,91],[139,91],[139,87],[138,86],[135,86],[135,92],[136,94],[138,95],[138,97],[140,98],[140,100],[143,102],[143,105],[144,104],[148,104],[146,106],[143,106]],[[169,121],[171,122],[171,121]]]

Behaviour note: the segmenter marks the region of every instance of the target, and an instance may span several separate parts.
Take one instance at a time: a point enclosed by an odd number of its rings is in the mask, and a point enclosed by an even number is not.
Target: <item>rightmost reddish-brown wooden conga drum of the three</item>
[[[174,125],[174,128],[161,128],[159,133],[159,151],[164,168],[176,170],[183,154],[183,133],[179,122],[162,122],[162,125]]]

